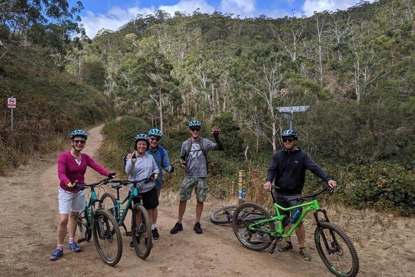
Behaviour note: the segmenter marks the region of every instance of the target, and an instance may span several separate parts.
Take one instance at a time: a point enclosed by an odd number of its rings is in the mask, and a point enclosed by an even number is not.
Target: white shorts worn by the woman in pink
[[[59,187],[58,202],[59,213],[69,214],[69,212],[82,212],[85,209],[87,198],[85,191],[81,190],[78,193],[66,191]]]

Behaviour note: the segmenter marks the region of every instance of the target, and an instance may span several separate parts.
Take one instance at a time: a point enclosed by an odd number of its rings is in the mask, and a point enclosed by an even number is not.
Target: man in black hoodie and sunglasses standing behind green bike
[[[275,189],[277,204],[287,208],[297,204],[297,196],[301,195],[304,187],[305,170],[308,169],[316,176],[319,176],[329,187],[337,186],[337,182],[332,180],[321,169],[310,156],[297,148],[298,133],[294,130],[285,130],[281,134],[284,148],[275,152],[268,168],[266,183],[263,185],[264,189],[271,190],[271,183],[275,179]],[[292,211],[293,214],[296,210]],[[285,213],[289,218],[289,212]],[[285,227],[285,232],[290,229],[290,226]],[[304,260],[311,260],[310,254],[305,250],[305,228],[302,222],[296,228],[296,235],[300,245],[300,255]],[[285,239],[284,244],[279,247],[278,251],[284,252],[293,249],[291,244],[291,237]]]

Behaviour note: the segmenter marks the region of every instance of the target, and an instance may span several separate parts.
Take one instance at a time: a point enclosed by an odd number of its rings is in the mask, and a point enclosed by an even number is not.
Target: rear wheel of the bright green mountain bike
[[[274,231],[275,225],[272,221],[260,224],[257,222],[270,218],[270,214],[260,205],[253,202],[243,203],[233,213],[233,232],[244,247],[262,251],[268,248],[274,240],[268,231]],[[255,230],[248,227],[253,227]]]

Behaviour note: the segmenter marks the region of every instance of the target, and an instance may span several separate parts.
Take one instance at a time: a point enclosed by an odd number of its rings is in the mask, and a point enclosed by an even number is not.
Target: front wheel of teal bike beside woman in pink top
[[[115,266],[122,255],[122,238],[115,218],[105,209],[97,209],[92,226],[93,242],[101,259]]]

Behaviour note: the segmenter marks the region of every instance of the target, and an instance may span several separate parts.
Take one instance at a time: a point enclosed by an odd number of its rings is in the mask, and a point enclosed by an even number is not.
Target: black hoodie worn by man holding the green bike
[[[284,148],[275,152],[266,178],[271,183],[275,179],[275,185],[280,187],[276,192],[284,195],[300,195],[304,187],[306,169],[325,182],[331,180],[306,152],[297,147],[291,152],[285,151]]]

